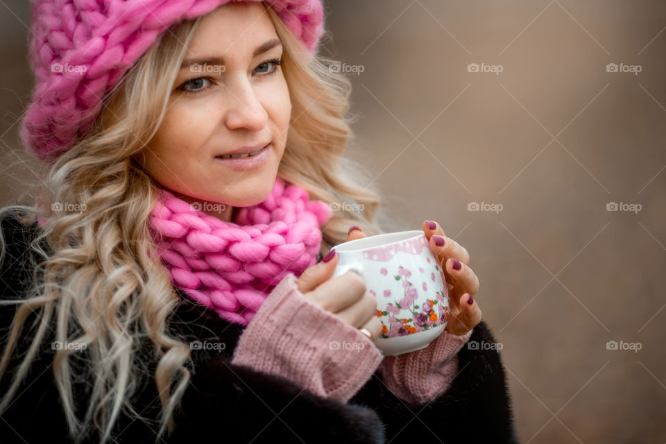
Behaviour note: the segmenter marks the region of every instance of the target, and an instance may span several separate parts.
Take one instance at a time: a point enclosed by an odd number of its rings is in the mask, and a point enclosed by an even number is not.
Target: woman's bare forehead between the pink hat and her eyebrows
[[[271,17],[261,3],[225,3],[201,19],[186,57],[250,56],[259,44],[275,37]]]

